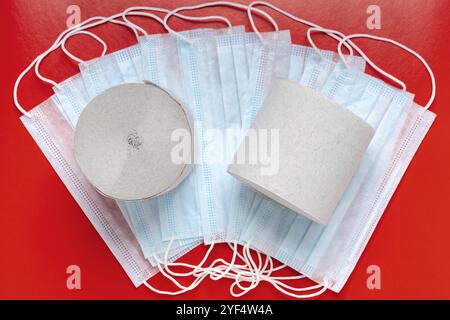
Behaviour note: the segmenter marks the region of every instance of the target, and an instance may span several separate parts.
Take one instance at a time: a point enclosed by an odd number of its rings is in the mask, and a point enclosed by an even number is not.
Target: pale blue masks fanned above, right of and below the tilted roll
[[[239,241],[339,292],[435,116],[413,105],[411,94],[342,62],[319,55],[305,61],[303,73],[291,69],[290,78],[354,112],[375,136],[326,227],[250,192]]]

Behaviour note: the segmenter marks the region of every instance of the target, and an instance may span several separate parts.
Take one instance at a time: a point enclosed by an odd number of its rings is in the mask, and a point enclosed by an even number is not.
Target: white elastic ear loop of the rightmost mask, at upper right
[[[415,56],[417,59],[420,60],[420,62],[422,62],[422,64],[425,66],[425,68],[427,69],[427,72],[430,76],[431,79],[431,96],[430,99],[428,100],[428,103],[424,106],[425,110],[428,110],[430,108],[430,106],[433,104],[433,101],[436,97],[436,79],[434,77],[434,73],[433,70],[431,69],[431,67],[428,65],[428,63],[426,62],[426,60],[420,55],[418,54],[416,51],[412,50],[411,48],[405,46],[404,44],[389,39],[389,38],[384,38],[384,37],[378,37],[378,36],[373,36],[370,34],[364,34],[364,33],[357,33],[357,34],[351,34],[346,36],[345,38],[343,38],[339,45],[338,45],[338,52],[339,55],[343,56],[342,54],[342,43],[349,40],[349,39],[353,39],[353,38],[368,38],[368,39],[374,39],[374,40],[378,40],[378,41],[384,41],[384,42],[388,42],[391,43],[393,45],[396,45],[398,47],[400,47],[401,49],[409,52],[410,54],[412,54],[413,56]],[[361,54],[361,52],[358,52],[359,54]],[[375,70],[377,70],[378,72],[380,72],[381,74],[383,74],[384,76],[388,77],[389,79],[394,80],[395,82],[401,82],[400,80],[398,80],[397,78],[395,78],[394,76],[392,76],[391,74],[387,73],[386,71],[382,70],[381,68],[379,68],[374,62],[372,62],[372,60],[370,60],[364,53],[361,54],[361,56],[367,61],[367,63],[374,68]],[[396,81],[397,80],[397,81]],[[404,86],[404,90],[406,90],[406,86]]]

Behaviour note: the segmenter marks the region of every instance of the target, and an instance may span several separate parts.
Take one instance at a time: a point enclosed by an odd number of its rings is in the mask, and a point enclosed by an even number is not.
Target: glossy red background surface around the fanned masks
[[[158,299],[146,288],[135,289],[88,219],[70,196],[31,136],[19,121],[12,89],[18,74],[46,50],[66,27],[66,8],[77,4],[81,17],[110,15],[130,5],[175,8],[203,1],[92,1],[16,0],[0,2],[0,298],[38,299]],[[324,27],[344,33],[367,33],[391,37],[422,54],[437,79],[437,97],[431,110],[438,117],[402,182],[356,269],[340,294],[327,292],[321,299],[450,298],[450,28],[447,0],[353,0],[272,1],[290,12]],[[366,27],[370,4],[381,7],[382,29]],[[245,23],[244,12],[213,8],[196,12],[223,14],[234,24]],[[270,11],[272,13],[272,11]],[[194,13],[192,13],[194,14]],[[306,28],[274,13],[280,26],[292,31],[295,43],[306,43]],[[264,30],[270,27],[258,20]],[[150,33],[162,32],[155,22],[139,20]],[[173,19],[176,29],[197,25]],[[216,25],[218,26],[218,24]],[[248,30],[250,30],[248,28]],[[120,26],[95,30],[115,51],[133,44],[133,37]],[[317,37],[323,48],[336,43]],[[70,41],[73,52],[84,59],[100,53],[97,44],[80,36]],[[356,40],[376,63],[392,72],[425,104],[430,83],[423,66],[404,51],[384,43]],[[57,51],[43,63],[43,74],[56,81],[78,72],[76,64]],[[52,94],[34,75],[20,87],[22,103],[31,109]],[[204,247],[189,253],[196,262]],[[221,247],[216,256],[228,256]],[[82,271],[82,289],[66,288],[66,268],[76,264]],[[367,267],[381,267],[381,290],[368,290]],[[167,287],[160,275],[152,283]],[[230,298],[230,282],[207,280],[179,298]],[[168,287],[167,287],[168,288]],[[244,298],[285,299],[268,284],[261,284]]]

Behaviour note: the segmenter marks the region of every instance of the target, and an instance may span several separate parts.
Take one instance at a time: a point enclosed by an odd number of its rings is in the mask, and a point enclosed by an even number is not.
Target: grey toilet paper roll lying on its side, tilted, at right
[[[319,92],[277,79],[228,172],[325,225],[373,134],[369,124]]]

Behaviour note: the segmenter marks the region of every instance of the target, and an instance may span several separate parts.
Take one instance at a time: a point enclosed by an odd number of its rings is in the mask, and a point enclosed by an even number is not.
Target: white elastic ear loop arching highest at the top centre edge
[[[179,32],[173,30],[172,28],[169,27],[168,25],[168,20],[170,19],[170,17],[172,17],[173,15],[176,15],[177,12],[179,11],[184,11],[184,10],[197,10],[197,9],[202,9],[202,8],[207,8],[207,7],[216,7],[216,6],[226,6],[226,7],[233,7],[233,8],[238,8],[238,9],[243,9],[243,10],[247,10],[248,6],[244,5],[244,4],[240,4],[240,3],[235,3],[235,2],[230,2],[230,1],[214,1],[214,2],[208,2],[208,3],[202,3],[202,4],[198,4],[198,5],[193,5],[193,6],[184,6],[184,7],[179,7],[176,8],[172,11],[170,11],[168,14],[166,14],[166,16],[164,17],[164,28],[166,28],[166,30],[169,33],[172,33],[176,36],[178,36],[180,39],[188,42],[188,43],[192,43],[192,41],[190,41],[188,38],[182,36]],[[261,14],[263,17],[265,17],[273,26],[275,31],[279,31],[278,28],[278,24],[275,22],[275,20],[266,12],[256,9],[253,9],[255,12]],[[225,19],[227,21],[227,24],[229,26],[229,28],[232,27],[231,22],[222,17],[222,16],[215,16],[215,18],[222,18]],[[223,20],[223,21],[225,21]]]

